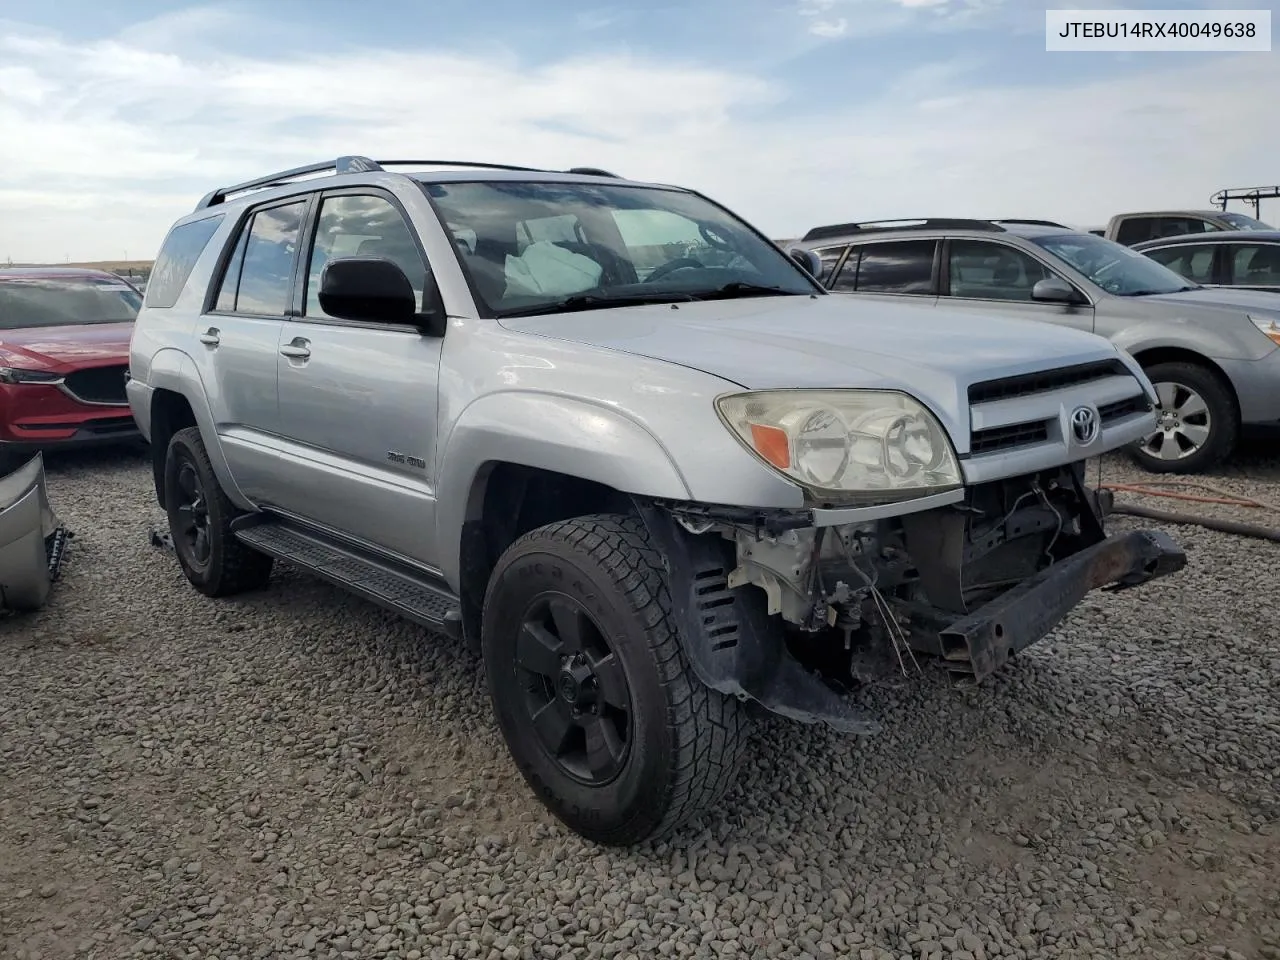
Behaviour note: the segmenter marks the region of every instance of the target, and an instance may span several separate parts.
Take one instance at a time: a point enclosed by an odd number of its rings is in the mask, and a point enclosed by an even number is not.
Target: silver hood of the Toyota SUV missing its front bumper
[[[1102,337],[1039,320],[837,294],[628,306],[500,323],[680,364],[748,389],[905,390],[965,425],[969,384],[1119,356]]]

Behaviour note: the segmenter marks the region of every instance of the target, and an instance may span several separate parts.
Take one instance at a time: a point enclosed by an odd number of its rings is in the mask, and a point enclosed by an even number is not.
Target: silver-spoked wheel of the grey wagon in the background
[[[1199,474],[1235,449],[1239,412],[1230,388],[1197,364],[1153,364],[1147,376],[1160,397],[1157,430],[1133,454],[1156,474]]]

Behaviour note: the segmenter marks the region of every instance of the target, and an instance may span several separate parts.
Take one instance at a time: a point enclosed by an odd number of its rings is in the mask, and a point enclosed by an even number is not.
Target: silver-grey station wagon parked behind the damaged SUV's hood
[[[1207,288],[1048,220],[925,219],[815,227],[797,243],[823,285],[881,302],[1044,320],[1102,334],[1160,396],[1133,447],[1147,470],[1198,474],[1245,429],[1280,426],[1280,300]]]

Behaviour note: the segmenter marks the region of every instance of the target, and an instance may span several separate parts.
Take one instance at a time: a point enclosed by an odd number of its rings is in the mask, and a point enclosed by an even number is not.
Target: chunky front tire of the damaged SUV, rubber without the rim
[[[481,650],[507,746],[539,800],[598,844],[668,836],[716,805],[745,753],[745,705],[705,686],[685,658],[662,557],[644,524],[596,515],[539,527],[499,558],[484,602]],[[535,598],[568,595],[586,608],[621,660],[631,699],[631,742],[616,780],[575,781],[532,732],[516,660],[517,634]]]

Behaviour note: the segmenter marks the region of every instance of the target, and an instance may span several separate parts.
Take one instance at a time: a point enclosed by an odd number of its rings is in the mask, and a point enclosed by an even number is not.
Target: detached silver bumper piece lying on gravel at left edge
[[[41,454],[0,477],[0,612],[45,605],[68,536],[49,506]]]

